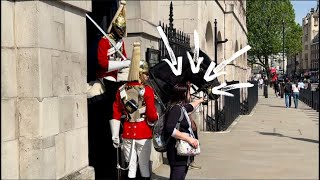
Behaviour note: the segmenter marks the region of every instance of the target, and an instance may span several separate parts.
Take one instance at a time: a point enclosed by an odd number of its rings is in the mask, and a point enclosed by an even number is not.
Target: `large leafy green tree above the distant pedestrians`
[[[301,51],[302,28],[295,23],[295,14],[290,0],[247,1],[248,52],[250,64],[261,65],[269,75],[269,57],[282,52],[283,27],[285,53]]]

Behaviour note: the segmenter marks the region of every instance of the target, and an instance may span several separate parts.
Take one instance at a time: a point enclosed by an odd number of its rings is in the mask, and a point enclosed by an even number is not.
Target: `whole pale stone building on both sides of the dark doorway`
[[[87,21],[92,2],[1,1],[1,178],[92,179],[88,166]],[[117,0],[115,0],[117,1]],[[174,27],[200,35],[200,48],[218,63],[247,45],[246,1],[173,1]],[[158,49],[168,1],[127,1],[126,51]],[[110,17],[109,17],[110,19]],[[146,59],[145,53],[142,59]],[[226,67],[220,81],[246,82],[247,57]],[[241,101],[246,92],[241,90]],[[222,108],[223,98],[219,99]],[[197,113],[196,113],[197,114]],[[198,114],[202,114],[198,112]],[[199,116],[197,119],[200,122]],[[152,152],[152,168],[162,163]]]

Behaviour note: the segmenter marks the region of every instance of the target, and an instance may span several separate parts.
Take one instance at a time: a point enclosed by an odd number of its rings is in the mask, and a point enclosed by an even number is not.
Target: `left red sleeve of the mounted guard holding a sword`
[[[109,48],[110,48],[109,41],[105,38],[101,38],[98,44],[98,63],[104,71],[107,71],[109,66],[109,58],[108,58]]]

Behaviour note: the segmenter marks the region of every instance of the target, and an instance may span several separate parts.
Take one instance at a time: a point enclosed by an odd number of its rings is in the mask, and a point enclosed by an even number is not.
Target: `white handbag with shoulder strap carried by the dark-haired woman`
[[[189,116],[188,116],[188,113],[187,111],[185,110],[184,107],[181,107],[186,118],[187,118],[187,121],[188,121],[188,124],[189,124],[189,132],[190,134],[188,134],[189,136],[195,138],[194,134],[193,134],[193,131],[191,129],[191,121],[189,119]],[[197,148],[194,148],[193,146],[191,146],[188,142],[184,141],[184,140],[177,140],[176,142],[176,149],[177,149],[177,154],[179,156],[196,156],[198,154],[200,154],[200,144],[199,144],[199,141],[198,141],[198,147]]]

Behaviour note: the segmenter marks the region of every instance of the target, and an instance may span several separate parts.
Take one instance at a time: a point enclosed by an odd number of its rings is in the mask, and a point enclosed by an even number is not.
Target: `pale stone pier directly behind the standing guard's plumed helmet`
[[[157,31],[159,18],[158,1],[127,1],[127,37],[124,38],[126,51],[131,59],[133,43],[141,43],[141,59],[146,60],[147,48],[159,49],[160,35]],[[152,170],[162,164],[162,153],[151,147]]]

